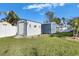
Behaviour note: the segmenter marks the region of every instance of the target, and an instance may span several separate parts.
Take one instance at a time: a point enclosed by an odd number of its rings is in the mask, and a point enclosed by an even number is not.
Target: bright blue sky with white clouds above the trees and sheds
[[[79,16],[78,3],[0,3],[0,12],[13,10],[21,19],[43,22],[45,12],[51,10],[55,17],[72,18]],[[5,15],[0,15],[0,19]]]

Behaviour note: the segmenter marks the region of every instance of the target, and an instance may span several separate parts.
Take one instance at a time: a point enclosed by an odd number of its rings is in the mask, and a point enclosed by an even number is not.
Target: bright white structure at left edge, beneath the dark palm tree
[[[14,36],[17,33],[17,27],[7,24],[0,24],[0,37]]]

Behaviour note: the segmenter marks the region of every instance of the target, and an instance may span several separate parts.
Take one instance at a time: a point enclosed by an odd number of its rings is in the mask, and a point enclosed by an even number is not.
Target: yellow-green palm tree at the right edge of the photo
[[[71,19],[70,25],[73,28],[73,37],[75,38],[79,35],[79,17]]]

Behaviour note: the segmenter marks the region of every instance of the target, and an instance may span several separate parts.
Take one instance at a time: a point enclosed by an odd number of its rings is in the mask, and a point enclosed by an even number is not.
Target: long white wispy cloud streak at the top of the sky
[[[58,7],[58,6],[64,6],[64,3],[42,3],[42,4],[32,4],[23,7],[23,9],[36,9],[41,10],[44,8],[51,8],[51,7]]]

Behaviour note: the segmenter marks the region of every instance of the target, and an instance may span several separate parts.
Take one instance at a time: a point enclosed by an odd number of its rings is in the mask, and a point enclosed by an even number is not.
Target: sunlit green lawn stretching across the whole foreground
[[[0,55],[12,56],[77,56],[79,42],[64,37],[0,38]]]

